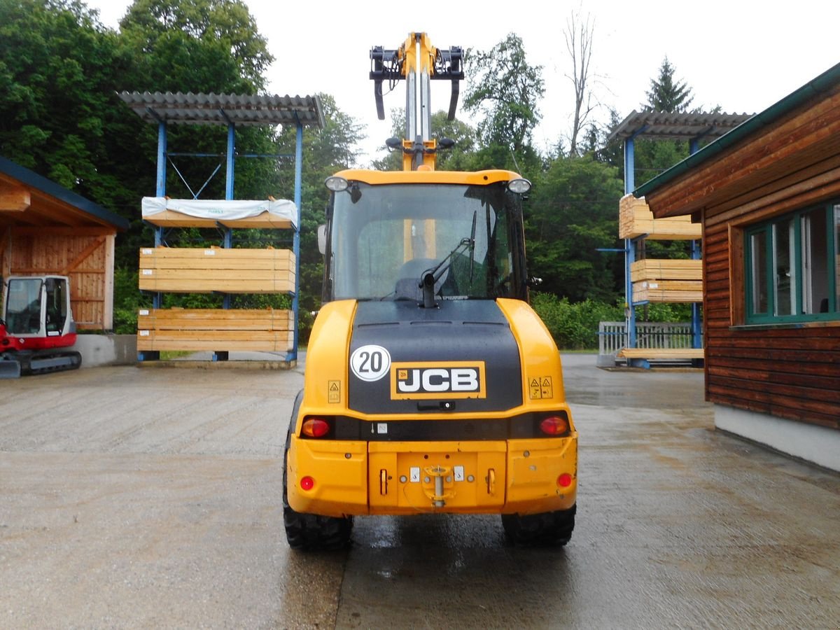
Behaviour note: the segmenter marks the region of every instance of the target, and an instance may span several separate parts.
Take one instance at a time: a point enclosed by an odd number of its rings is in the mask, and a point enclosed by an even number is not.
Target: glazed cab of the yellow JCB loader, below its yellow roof
[[[508,181],[327,186],[324,302],[526,298],[522,194]]]

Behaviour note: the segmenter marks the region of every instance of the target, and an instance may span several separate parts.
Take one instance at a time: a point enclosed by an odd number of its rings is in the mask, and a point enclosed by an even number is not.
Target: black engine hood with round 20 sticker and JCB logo
[[[368,414],[506,411],[522,404],[519,348],[491,300],[360,302],[349,407]]]

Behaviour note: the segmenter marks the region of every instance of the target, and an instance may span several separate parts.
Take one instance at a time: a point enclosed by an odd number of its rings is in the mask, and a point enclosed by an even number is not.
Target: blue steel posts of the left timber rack
[[[155,114],[152,113],[154,116]],[[228,123],[228,155],[226,160],[226,178],[225,178],[225,192],[224,198],[228,201],[234,198],[234,167],[236,155],[236,134],[234,123],[230,118],[222,112],[222,116]],[[166,196],[166,123],[164,120],[157,118],[158,121],[158,155],[157,155],[157,181],[155,186],[155,195],[157,197]],[[292,341],[291,351],[286,354],[286,361],[297,361],[297,328],[300,318],[298,317],[298,294],[297,283],[301,277],[301,203],[302,203],[302,181],[303,181],[303,124],[300,118],[295,113],[295,120],[297,122],[297,133],[295,134],[295,206],[297,206],[297,221],[295,225],[295,234],[293,236],[292,251],[295,255],[295,291],[291,296],[291,310],[294,313],[294,338]],[[179,155],[198,155],[198,154],[179,154]],[[286,155],[262,155],[249,154],[243,157],[286,157]],[[225,228],[223,246],[230,248],[233,246],[233,229]],[[155,247],[163,244],[163,228],[155,226]],[[160,308],[161,294],[155,293],[152,298],[152,304],[155,308]],[[225,294],[223,297],[223,307],[230,308],[230,295]],[[160,358],[159,352],[140,352],[138,353],[138,360],[155,360]],[[228,360],[227,352],[214,352],[213,360]]]

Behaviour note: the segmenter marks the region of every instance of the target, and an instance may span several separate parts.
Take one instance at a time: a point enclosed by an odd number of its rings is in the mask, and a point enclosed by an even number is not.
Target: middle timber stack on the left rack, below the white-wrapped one
[[[141,291],[286,293],[295,290],[288,249],[140,249]]]

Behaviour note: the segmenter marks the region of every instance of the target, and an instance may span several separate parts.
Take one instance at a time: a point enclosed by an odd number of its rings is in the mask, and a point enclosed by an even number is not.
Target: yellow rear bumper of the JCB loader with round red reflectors
[[[554,512],[575,505],[577,433],[480,442],[362,442],[291,436],[287,491],[296,512]],[[568,486],[561,486],[564,475]],[[313,485],[303,490],[301,479]]]

